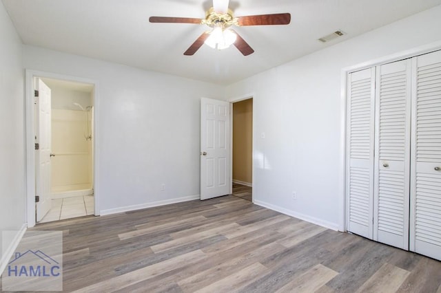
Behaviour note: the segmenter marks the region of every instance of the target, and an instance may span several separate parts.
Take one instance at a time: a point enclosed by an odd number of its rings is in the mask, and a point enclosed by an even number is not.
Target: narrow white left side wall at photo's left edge
[[[25,223],[25,152],[21,41],[1,1],[0,44],[0,232],[3,232],[20,230]],[[6,239],[0,235],[0,246],[2,240]],[[5,242],[3,249],[12,244],[10,240]]]

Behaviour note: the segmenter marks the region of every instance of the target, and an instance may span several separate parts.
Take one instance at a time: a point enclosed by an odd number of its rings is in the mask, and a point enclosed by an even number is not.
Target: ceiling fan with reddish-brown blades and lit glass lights
[[[234,45],[244,56],[252,54],[254,50],[248,43],[230,27],[249,25],[287,25],[291,22],[291,14],[262,14],[246,17],[234,17],[233,11],[228,8],[229,0],[213,0],[213,7],[206,12],[205,19],[187,17],[150,17],[151,23],[194,23],[207,25],[210,30],[203,32],[192,45],[184,52],[191,56],[205,43],[218,50]]]

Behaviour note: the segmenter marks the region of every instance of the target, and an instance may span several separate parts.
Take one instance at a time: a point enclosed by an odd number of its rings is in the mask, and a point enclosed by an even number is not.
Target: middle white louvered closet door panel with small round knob
[[[376,74],[373,239],[408,250],[411,59]]]

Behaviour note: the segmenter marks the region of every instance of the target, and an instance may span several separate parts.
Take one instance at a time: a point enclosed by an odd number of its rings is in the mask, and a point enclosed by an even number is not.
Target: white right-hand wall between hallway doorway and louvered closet
[[[438,6],[227,87],[254,94],[254,200],[337,228],[342,68],[441,41],[440,28]]]

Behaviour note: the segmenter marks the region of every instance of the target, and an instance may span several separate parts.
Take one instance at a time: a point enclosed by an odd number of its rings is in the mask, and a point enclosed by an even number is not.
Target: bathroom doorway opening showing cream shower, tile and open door
[[[33,80],[35,220],[94,215],[94,85]]]

